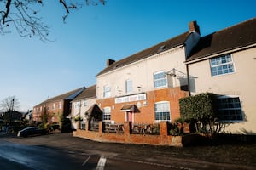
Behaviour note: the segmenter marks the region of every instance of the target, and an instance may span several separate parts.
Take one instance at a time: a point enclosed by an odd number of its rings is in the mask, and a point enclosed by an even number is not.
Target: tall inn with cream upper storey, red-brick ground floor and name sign
[[[132,54],[107,60],[96,75],[96,103],[103,122],[172,122],[180,116],[179,99],[189,95],[186,56],[200,39],[199,26]]]

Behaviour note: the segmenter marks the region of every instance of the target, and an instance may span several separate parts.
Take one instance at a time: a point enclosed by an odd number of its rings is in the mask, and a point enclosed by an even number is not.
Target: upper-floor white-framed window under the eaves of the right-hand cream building
[[[223,55],[210,60],[212,77],[234,72],[231,55]]]

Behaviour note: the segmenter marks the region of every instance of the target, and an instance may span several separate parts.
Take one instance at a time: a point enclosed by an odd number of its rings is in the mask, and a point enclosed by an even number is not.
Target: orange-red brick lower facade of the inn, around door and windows
[[[138,108],[139,112],[134,115],[134,122],[154,122],[154,103],[160,101],[169,101],[171,107],[171,119],[174,121],[180,116],[178,100],[189,96],[186,91],[180,90],[180,88],[164,88],[146,93],[147,99],[145,101],[135,101],[115,104],[114,98],[98,99],[96,103],[103,110],[104,107],[111,107],[111,120],[117,123],[125,122],[125,111],[120,111],[123,105],[137,105],[141,103],[141,107]],[[143,105],[143,102],[147,102],[147,105]]]

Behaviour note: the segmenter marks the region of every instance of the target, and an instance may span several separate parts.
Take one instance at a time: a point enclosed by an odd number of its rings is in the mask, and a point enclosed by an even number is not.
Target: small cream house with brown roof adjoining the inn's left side
[[[84,91],[72,100],[72,128],[84,129],[85,122],[91,113],[101,114],[101,110],[96,105],[96,85],[85,88]]]

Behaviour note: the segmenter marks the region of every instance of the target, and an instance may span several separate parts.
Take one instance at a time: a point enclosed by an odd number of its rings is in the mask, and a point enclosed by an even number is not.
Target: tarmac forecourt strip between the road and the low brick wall
[[[112,161],[127,161],[171,169],[256,169],[256,144],[165,147],[136,144],[110,144],[55,133],[31,138],[2,136],[0,140],[16,144],[51,147],[67,152],[105,156]],[[109,161],[110,162],[110,161]]]

